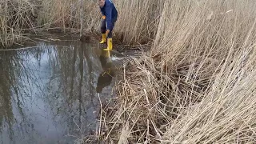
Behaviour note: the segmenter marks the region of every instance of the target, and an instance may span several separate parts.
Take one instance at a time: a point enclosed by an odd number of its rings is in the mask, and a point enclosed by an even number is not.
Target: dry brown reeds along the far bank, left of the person
[[[77,32],[81,18],[86,32],[95,32],[100,24],[97,2],[80,0],[2,0],[0,1],[0,42],[9,47],[20,42],[24,33],[61,29]],[[80,10],[84,9],[81,14]]]

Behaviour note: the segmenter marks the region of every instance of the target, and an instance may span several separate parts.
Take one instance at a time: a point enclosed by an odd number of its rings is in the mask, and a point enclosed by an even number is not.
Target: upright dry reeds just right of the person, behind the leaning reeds
[[[118,22],[114,30],[118,32],[117,37],[129,44],[152,41],[157,32],[163,3],[163,0],[116,0]]]

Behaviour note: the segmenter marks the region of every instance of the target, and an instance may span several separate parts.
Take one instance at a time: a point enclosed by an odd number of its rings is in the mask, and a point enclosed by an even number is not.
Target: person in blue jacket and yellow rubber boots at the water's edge
[[[118,19],[118,10],[116,10],[112,0],[98,0],[98,5],[102,12],[102,41],[100,43],[107,42],[107,48],[104,50],[112,50],[112,30]]]

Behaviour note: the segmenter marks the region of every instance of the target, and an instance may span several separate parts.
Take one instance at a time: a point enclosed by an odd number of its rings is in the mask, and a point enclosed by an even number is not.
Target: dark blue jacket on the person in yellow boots
[[[106,0],[105,5],[101,8],[102,15],[106,16],[106,29],[112,31],[113,23],[118,19],[118,10],[116,10],[112,0]]]

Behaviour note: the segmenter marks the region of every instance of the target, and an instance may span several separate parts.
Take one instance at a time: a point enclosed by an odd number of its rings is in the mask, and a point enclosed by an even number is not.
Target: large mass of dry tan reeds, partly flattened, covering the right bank
[[[102,111],[110,143],[255,143],[254,0],[164,1],[150,54]]]

